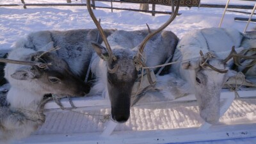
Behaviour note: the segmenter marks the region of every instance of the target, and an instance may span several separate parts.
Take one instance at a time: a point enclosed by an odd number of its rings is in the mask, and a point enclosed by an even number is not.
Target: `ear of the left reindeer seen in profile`
[[[28,80],[28,79],[33,79],[36,76],[38,76],[38,71],[35,70],[33,67],[21,67],[19,69],[17,69],[12,75],[11,77],[13,79],[18,79],[18,80]]]

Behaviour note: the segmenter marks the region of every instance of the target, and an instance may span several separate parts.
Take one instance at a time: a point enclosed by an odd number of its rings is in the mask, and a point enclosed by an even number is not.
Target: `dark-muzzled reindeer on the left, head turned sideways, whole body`
[[[112,31],[106,30],[107,35]],[[24,138],[42,125],[45,95],[84,96],[90,91],[84,77],[93,52],[88,44],[96,39],[97,29],[39,31],[15,44],[8,59],[25,65],[7,63],[4,68],[11,88],[6,96],[10,106],[0,108],[0,140]],[[62,48],[52,51],[56,46]]]

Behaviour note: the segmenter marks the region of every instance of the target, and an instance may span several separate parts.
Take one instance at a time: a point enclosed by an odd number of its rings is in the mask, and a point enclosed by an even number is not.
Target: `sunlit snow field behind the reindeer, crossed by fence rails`
[[[36,3],[35,1],[25,1],[26,3]],[[40,3],[52,3],[50,0],[39,1]],[[39,3],[38,2],[38,3]],[[79,1],[74,1],[80,3]],[[215,2],[215,1],[214,1]],[[20,4],[18,0],[1,0],[0,4]],[[56,0],[54,3],[65,3],[64,0]],[[211,3],[211,1],[201,1],[201,3]],[[216,3],[225,4],[225,1],[216,1]],[[232,1],[232,3],[241,4],[241,1]],[[231,4],[232,4],[231,3]],[[243,1],[243,4],[253,5],[255,2]],[[109,6],[110,3],[97,2],[96,6]],[[129,6],[128,6],[129,5]],[[113,3],[114,7],[139,8],[139,4]],[[156,6],[156,10],[170,12],[170,6]],[[251,10],[244,10],[250,12]],[[22,6],[1,7],[0,8],[0,48],[8,49],[13,42],[20,36],[27,35],[32,31],[40,30],[67,30],[79,28],[95,28],[90,15],[88,15],[86,6],[28,6],[24,10]],[[167,30],[173,31],[179,37],[192,29],[202,29],[218,27],[223,8],[180,8],[177,17]],[[146,29],[146,23],[151,29],[156,29],[170,16],[156,14],[152,17],[149,13],[139,13],[131,11],[120,11],[108,9],[95,10],[95,15],[101,19],[102,28],[116,28],[125,30]],[[248,17],[246,14],[227,12],[223,21],[223,28],[237,28],[243,31],[246,22],[236,22],[234,17]],[[256,24],[251,23],[248,30],[255,28]]]

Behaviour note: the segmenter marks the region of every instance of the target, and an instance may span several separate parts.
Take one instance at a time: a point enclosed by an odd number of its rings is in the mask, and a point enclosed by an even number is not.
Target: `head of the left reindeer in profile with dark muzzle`
[[[50,42],[45,45],[45,50],[52,47],[53,44]],[[56,54],[51,52],[44,53],[44,51],[35,52],[30,49],[15,49],[14,51],[29,51],[28,54],[22,56],[22,61],[38,61],[41,63],[51,63],[51,65],[40,68],[36,65],[8,63],[5,68],[5,77],[12,86],[42,95],[52,93],[83,96],[90,91],[90,86],[76,77],[71,72],[66,61],[59,58]],[[9,57],[14,57],[16,52],[11,52]],[[40,56],[40,58],[36,60],[36,56]]]

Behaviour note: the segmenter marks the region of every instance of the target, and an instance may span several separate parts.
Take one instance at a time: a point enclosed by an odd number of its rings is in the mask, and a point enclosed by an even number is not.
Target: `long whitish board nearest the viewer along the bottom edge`
[[[205,131],[197,127],[167,129],[161,131],[115,131],[111,136],[100,136],[100,132],[84,134],[32,135],[13,144],[138,144],[138,143],[186,143],[193,141],[229,140],[256,136],[255,124],[213,125]]]

